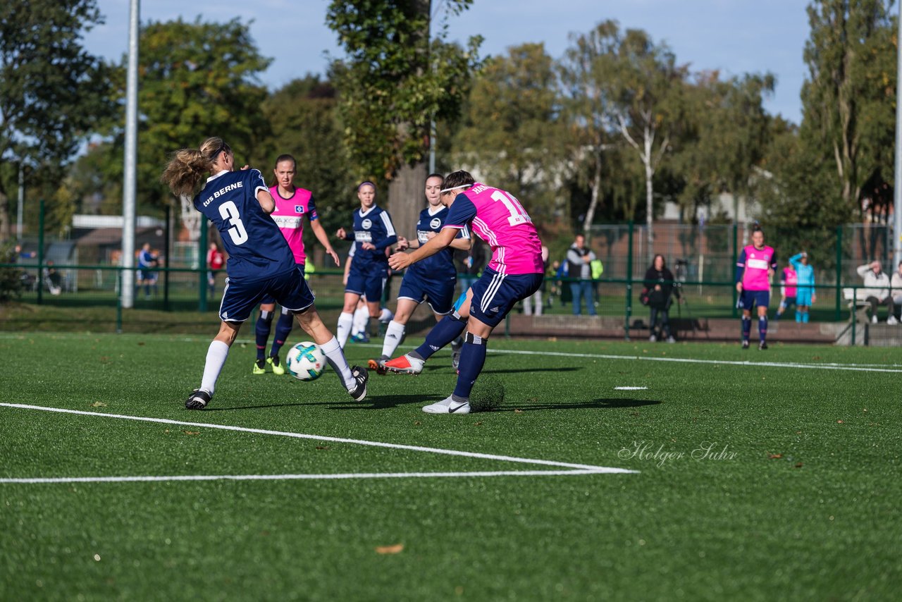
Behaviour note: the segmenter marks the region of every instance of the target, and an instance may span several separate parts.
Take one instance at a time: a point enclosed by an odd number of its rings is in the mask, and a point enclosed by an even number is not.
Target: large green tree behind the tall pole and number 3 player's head
[[[251,38],[248,24],[194,23],[181,19],[143,26],[139,49],[138,91],[138,205],[159,212],[170,203],[160,172],[170,153],[197,147],[211,135],[224,138],[238,154],[241,165],[254,146],[268,134],[262,103],[267,97],[259,74],[271,60],[263,58]],[[124,97],[124,61],[116,83]],[[106,177],[122,181],[124,119],[120,114],[108,130],[112,144],[105,147]],[[199,214],[190,199],[180,199],[182,220],[194,235]]]

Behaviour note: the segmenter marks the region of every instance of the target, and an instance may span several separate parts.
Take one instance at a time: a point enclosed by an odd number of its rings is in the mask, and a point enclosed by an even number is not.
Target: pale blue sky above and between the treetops
[[[446,0],[432,0],[434,7]],[[336,35],[325,23],[328,0],[144,0],[141,20],[225,22],[253,19],[251,32],[264,56],[273,59],[263,82],[279,88],[306,73],[323,73],[327,52],[340,56]],[[86,35],[88,50],[118,60],[128,44],[128,0],[97,0],[106,24]],[[505,53],[512,45],[544,42],[559,58],[569,34],[590,31],[613,19],[621,29],[649,32],[667,42],[680,63],[726,75],[763,73],[777,77],[765,100],[769,113],[801,120],[799,90],[805,79],[802,51],[808,37],[806,0],[474,0],[470,10],[449,21],[451,40],[485,38],[483,55]]]

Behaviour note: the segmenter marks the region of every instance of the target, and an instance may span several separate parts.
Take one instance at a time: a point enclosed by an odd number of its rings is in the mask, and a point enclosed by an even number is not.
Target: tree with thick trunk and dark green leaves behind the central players
[[[446,0],[445,17],[472,2]],[[419,214],[430,125],[456,118],[479,64],[479,37],[464,51],[445,42],[444,23],[430,41],[430,11],[429,0],[333,0],[326,15],[347,55],[333,73],[354,174],[390,182],[402,230]]]

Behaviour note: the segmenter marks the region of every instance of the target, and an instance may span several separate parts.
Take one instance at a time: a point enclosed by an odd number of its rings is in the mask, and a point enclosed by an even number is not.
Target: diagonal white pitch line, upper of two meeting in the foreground
[[[543,460],[543,459],[532,459],[532,458],[517,458],[515,456],[500,456],[497,454],[484,454],[480,452],[474,451],[460,451],[456,449],[440,449],[440,448],[426,448],[419,445],[404,445],[401,443],[384,443],[382,441],[368,441],[368,440],[359,440],[359,439],[345,439],[343,437],[326,437],[323,435],[308,435],[306,433],[299,432],[289,432],[289,431],[268,431],[265,429],[251,429],[247,427],[241,426],[231,426],[227,424],[207,424],[205,422],[187,422],[187,421],[173,421],[165,418],[149,418],[146,416],[127,416],[124,414],[106,414],[100,412],[83,412],[81,410],[69,410],[64,408],[51,408],[44,407],[41,405],[29,405],[26,403],[0,403],[0,406],[7,408],[16,408],[21,410],[38,410],[41,412],[60,412],[67,414],[78,414],[79,416],[93,416],[98,418],[118,418],[121,420],[131,420],[131,421],[143,421],[143,422],[155,422],[158,424],[172,424],[176,426],[189,426],[200,429],[219,429],[221,431],[237,431],[237,432],[252,432],[255,434],[261,435],[275,435],[278,437],[291,437],[294,439],[308,439],[308,440],[318,440],[318,441],[329,441],[333,443],[352,443],[356,445],[368,445],[377,448],[388,448],[388,449],[407,449],[410,451],[422,451],[433,454],[445,454],[447,456],[461,456],[464,458],[480,458],[480,459],[490,459],[490,460],[499,460],[502,462],[517,462],[521,464],[534,464],[539,466],[551,466],[558,468],[571,468],[569,471],[553,471],[561,474],[590,474],[590,473],[635,473],[635,470],[628,470],[626,468],[610,468],[610,467],[601,467],[601,466],[592,466],[587,464],[572,464],[569,462],[557,462],[555,460]],[[366,473],[363,473],[364,475]],[[413,473],[414,475],[418,473]],[[428,474],[428,473],[427,473]],[[437,476],[442,476],[443,473],[436,473]],[[480,473],[466,473],[473,474],[479,476]],[[492,473],[493,475],[497,473]],[[454,473],[444,473],[445,476],[454,476]],[[426,476],[426,475],[424,475]],[[249,476],[254,477],[254,476]],[[329,475],[302,475],[297,476],[296,478],[336,478],[334,476]],[[223,477],[214,477],[214,478],[223,478]],[[350,478],[350,477],[345,477]],[[365,478],[365,476],[363,477]],[[17,480],[9,480],[9,479],[0,479],[0,483],[8,483],[8,482],[19,482]],[[39,481],[40,482],[40,481]]]

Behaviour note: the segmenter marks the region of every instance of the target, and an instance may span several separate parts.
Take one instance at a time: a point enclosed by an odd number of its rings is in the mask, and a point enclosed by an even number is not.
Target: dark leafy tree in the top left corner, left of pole
[[[18,165],[32,166],[32,181],[58,180],[114,110],[108,67],[81,45],[82,32],[102,23],[96,0],[0,4],[0,237],[11,235]]]

